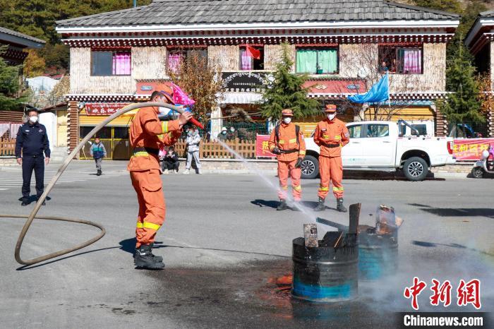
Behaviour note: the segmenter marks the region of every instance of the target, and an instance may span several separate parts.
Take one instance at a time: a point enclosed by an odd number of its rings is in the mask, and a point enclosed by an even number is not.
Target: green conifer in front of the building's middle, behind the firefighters
[[[302,88],[308,76],[291,73],[294,62],[290,58],[289,45],[282,44],[282,47],[282,61],[276,66],[275,80],[263,90],[261,114],[265,118],[279,119],[283,109],[291,109],[294,118],[299,119],[320,113],[319,102],[308,98],[308,88]]]

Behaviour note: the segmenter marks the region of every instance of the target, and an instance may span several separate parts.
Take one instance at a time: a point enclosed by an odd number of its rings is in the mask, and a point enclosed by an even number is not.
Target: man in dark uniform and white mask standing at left
[[[47,128],[38,122],[37,110],[30,109],[28,112],[28,122],[20,126],[16,139],[17,163],[23,166],[23,203],[21,205],[28,205],[29,203],[33,169],[36,177],[36,200],[39,200],[43,194],[44,165],[48,164],[49,155]]]

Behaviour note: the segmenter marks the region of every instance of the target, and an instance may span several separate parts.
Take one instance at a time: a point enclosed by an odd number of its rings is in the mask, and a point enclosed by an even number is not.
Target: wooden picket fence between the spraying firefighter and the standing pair
[[[239,153],[246,159],[255,159],[255,141],[228,140],[225,142],[232,150]],[[179,157],[186,157],[186,143],[185,140],[180,140],[175,145],[175,150],[179,154]],[[227,149],[221,144],[215,141],[201,140],[199,144],[199,157],[207,159],[234,159]]]

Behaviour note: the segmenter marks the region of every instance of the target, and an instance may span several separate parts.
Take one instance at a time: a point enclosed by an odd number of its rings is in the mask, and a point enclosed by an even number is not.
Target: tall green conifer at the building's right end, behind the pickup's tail
[[[453,93],[438,106],[450,122],[484,122],[481,114],[481,102],[478,100],[478,82],[475,79],[475,67],[471,63],[471,55],[466,49],[462,38],[459,38],[457,51],[447,63],[446,90]]]

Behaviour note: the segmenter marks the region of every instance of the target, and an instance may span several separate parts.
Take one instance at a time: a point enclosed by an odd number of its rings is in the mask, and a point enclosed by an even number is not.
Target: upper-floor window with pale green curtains
[[[338,72],[337,49],[297,49],[296,73],[328,74]]]

